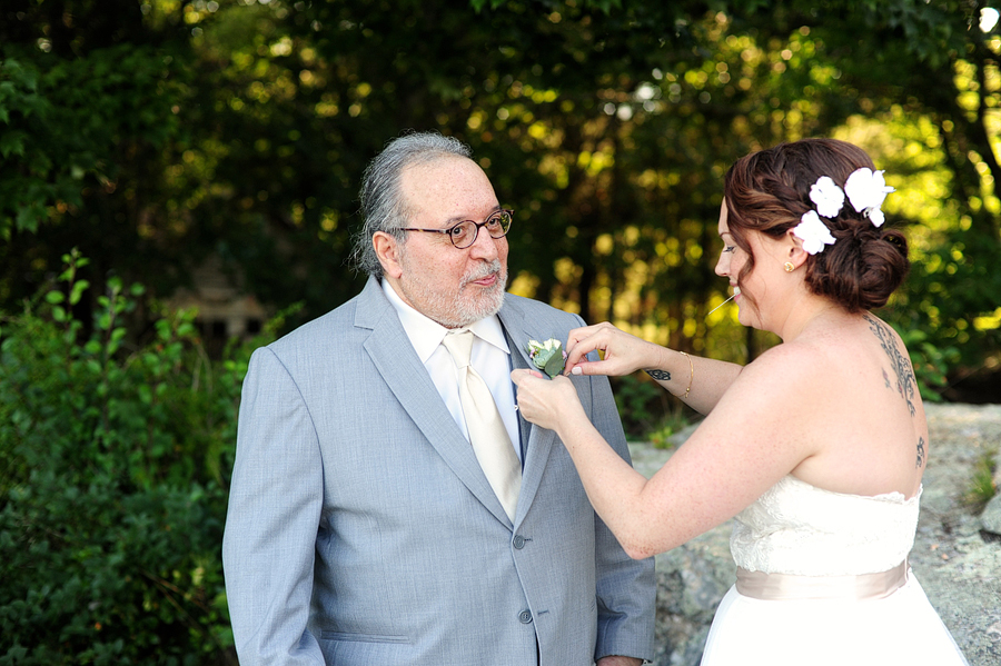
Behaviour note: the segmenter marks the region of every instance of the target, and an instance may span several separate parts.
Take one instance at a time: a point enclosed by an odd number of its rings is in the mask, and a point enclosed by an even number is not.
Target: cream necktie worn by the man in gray
[[[459,370],[459,401],[469,430],[469,441],[490,487],[512,523],[522,488],[522,464],[515,455],[500,412],[483,377],[469,365],[473,331],[447,334],[442,346]]]

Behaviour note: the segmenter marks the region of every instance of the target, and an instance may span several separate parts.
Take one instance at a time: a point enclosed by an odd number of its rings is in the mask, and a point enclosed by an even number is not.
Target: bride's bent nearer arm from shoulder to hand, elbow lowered
[[[796,398],[804,385],[790,376],[800,374],[762,359],[744,369],[650,480],[608,447],[567,378],[549,381],[528,370],[515,370],[512,378],[522,414],[556,431],[598,516],[631,557],[643,558],[732,518],[815,453]]]

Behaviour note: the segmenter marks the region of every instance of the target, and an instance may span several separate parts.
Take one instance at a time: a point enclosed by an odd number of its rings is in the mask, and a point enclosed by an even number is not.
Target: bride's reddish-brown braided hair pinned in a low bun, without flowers
[[[827,176],[844,189],[848,177],[863,167],[875,170],[864,150],[834,139],[803,139],[737,160],[723,182],[730,233],[750,257],[737,284],[754,268],[750,231],[782,238],[804,212],[815,209],[810,188],[817,178]],[[848,198],[838,217],[821,221],[835,242],[807,257],[807,289],[849,312],[884,306],[910,269],[903,233],[875,227]]]

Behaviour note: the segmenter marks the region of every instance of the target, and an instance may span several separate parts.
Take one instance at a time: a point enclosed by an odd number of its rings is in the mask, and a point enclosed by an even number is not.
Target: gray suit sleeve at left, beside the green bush
[[[268,348],[244,380],[222,540],[232,634],[242,666],[323,666],[306,628],[323,503],[323,464],[303,396]]]

